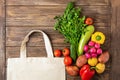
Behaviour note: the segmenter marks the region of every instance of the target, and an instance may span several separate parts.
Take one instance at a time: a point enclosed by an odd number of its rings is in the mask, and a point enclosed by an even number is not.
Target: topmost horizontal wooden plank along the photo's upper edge
[[[7,5],[66,5],[71,0],[7,0]],[[108,5],[109,0],[72,0],[78,5]]]

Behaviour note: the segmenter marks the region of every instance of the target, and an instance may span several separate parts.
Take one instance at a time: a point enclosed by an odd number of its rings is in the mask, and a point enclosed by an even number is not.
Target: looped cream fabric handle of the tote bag
[[[47,57],[53,57],[52,46],[51,46],[51,43],[50,43],[50,40],[49,40],[47,34],[45,34],[41,30],[32,30],[25,36],[24,40],[22,41],[21,48],[20,48],[20,58],[27,57],[26,56],[26,43],[29,41],[29,36],[34,32],[42,33],[44,43],[45,43],[46,52],[47,52]]]

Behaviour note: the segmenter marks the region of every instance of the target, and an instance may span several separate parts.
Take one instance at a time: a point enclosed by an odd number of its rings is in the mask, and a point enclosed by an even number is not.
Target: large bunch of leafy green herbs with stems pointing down
[[[78,48],[78,43],[82,33],[84,33],[84,24],[85,16],[80,16],[81,8],[75,8],[73,2],[69,2],[64,14],[61,16],[56,16],[57,20],[54,29],[58,30],[65,37],[65,40],[71,44],[70,50],[71,57],[73,60],[76,60],[76,53]],[[74,45],[74,47],[73,47]],[[73,49],[74,48],[74,49]]]

